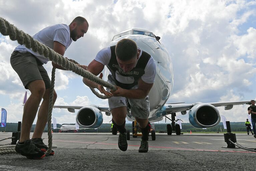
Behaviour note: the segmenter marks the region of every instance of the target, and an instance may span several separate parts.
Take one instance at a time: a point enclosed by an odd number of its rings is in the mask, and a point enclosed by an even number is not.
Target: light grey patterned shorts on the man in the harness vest
[[[108,80],[110,84],[116,85],[113,81],[112,75],[108,75]],[[138,85],[134,86],[132,89],[137,89]],[[106,91],[110,91],[108,88]],[[129,102],[129,104],[128,104]],[[127,99],[125,97],[111,97],[108,99],[109,111],[118,107],[127,107],[127,115],[132,118],[136,117],[139,119],[148,119],[149,117],[149,96],[145,99]],[[131,109],[131,110],[130,110]],[[130,112],[131,111],[131,112]]]

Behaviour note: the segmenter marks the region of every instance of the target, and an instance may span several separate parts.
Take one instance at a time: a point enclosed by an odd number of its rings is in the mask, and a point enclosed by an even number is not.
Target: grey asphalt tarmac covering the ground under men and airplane
[[[118,135],[111,133],[53,133],[54,156],[31,160],[20,154],[0,155],[0,170],[255,170],[256,152],[227,147],[221,133],[156,133],[149,151],[139,153],[140,137],[128,140],[127,151],[119,150]],[[0,140],[11,137],[0,132]],[[32,133],[31,133],[32,136]],[[43,133],[48,143],[47,133]],[[256,148],[251,134],[237,133],[243,147]],[[11,139],[0,141],[0,145]]]

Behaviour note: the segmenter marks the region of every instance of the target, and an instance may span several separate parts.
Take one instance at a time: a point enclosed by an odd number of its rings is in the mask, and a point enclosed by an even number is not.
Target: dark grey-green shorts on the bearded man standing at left
[[[51,80],[47,71],[34,55],[29,52],[13,51],[10,62],[12,68],[19,75],[25,89],[28,89],[28,84],[35,80],[43,80],[45,89],[51,87]]]

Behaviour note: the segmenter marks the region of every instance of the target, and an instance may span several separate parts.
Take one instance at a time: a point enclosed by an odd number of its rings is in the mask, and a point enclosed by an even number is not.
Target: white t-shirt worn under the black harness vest
[[[142,55],[142,50],[140,52],[139,59],[141,55]],[[110,47],[105,47],[97,53],[95,60],[102,63],[103,65],[108,65],[110,58],[111,58]],[[123,83],[123,84],[134,83],[133,77],[124,77],[118,73],[118,70],[116,72],[117,73],[115,73],[115,78],[120,83]],[[155,82],[155,76],[156,76],[156,63],[154,62],[153,57],[150,56],[150,59],[145,67],[145,73],[142,75],[141,79],[148,84],[152,84]]]

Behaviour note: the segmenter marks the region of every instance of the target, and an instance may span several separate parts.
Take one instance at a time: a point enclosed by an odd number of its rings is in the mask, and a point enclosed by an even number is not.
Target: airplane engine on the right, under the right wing
[[[189,122],[195,128],[211,128],[220,123],[220,113],[211,104],[197,104],[189,111]]]

